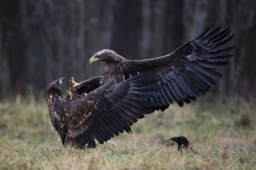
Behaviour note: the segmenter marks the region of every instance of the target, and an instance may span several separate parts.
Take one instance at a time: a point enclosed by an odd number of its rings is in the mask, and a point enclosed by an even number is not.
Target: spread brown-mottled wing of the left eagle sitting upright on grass
[[[159,96],[149,93],[159,87],[145,88],[156,82],[147,81],[149,77],[151,75],[141,74],[118,84],[108,82],[85,97],[69,102],[65,145],[96,147],[94,139],[104,143],[113,135],[123,133],[138,118],[143,118],[143,114],[152,113],[143,107],[157,104],[142,99]]]

